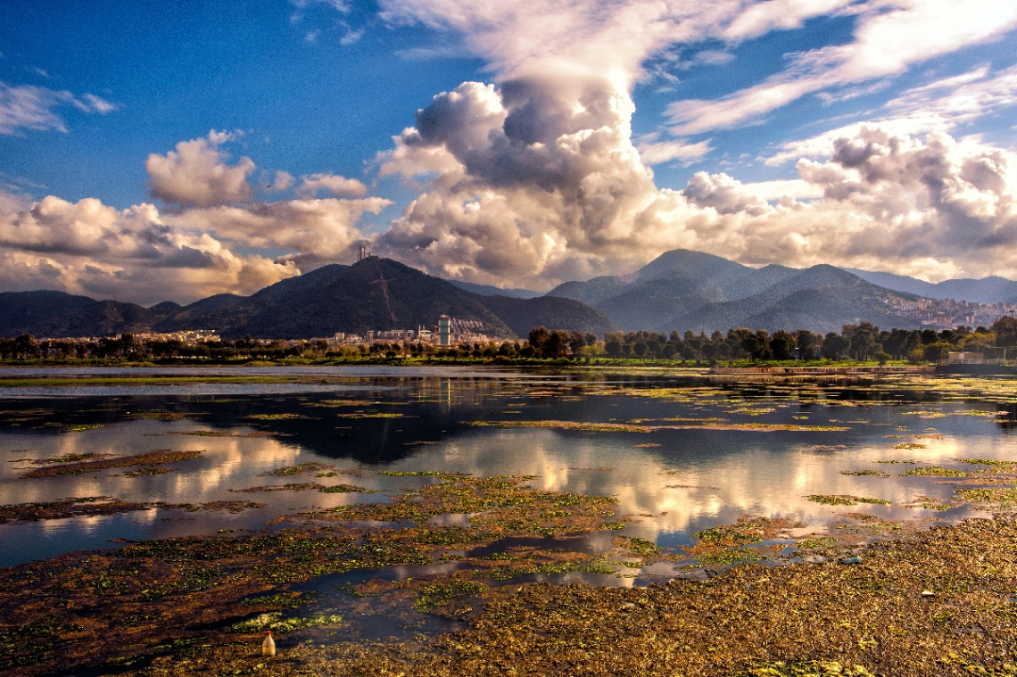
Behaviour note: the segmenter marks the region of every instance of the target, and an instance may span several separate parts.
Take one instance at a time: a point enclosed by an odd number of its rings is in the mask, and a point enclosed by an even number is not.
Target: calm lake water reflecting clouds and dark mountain
[[[10,378],[122,376],[139,382],[2,386]],[[207,381],[145,382],[154,376]],[[216,381],[243,376],[286,382]],[[801,521],[807,525],[802,533],[813,534],[829,532],[843,513],[857,510],[894,520],[956,520],[972,509],[906,507],[922,496],[949,502],[956,487],[945,482],[952,478],[904,473],[928,466],[972,470],[958,458],[1017,460],[1015,390],[1017,380],[975,377],[732,384],[667,372],[595,370],[4,369],[0,503],[113,496],[175,504],[249,500],[265,506],[239,513],[154,507],[8,522],[0,525],[5,546],[0,566],[116,547],[111,539],[259,530],[294,511],[385,500],[384,492],[430,481],[377,471],[533,475],[530,484],[536,488],[617,498],[616,514],[633,518],[621,533],[662,546],[692,543],[696,532],[745,514]],[[547,423],[556,421],[661,428],[570,430]],[[473,425],[478,422],[537,427]],[[810,428],[744,427],[757,424]],[[714,428],[704,427],[710,425]],[[130,477],[132,469],[113,468],[21,477],[57,465],[44,464],[47,458],[154,449],[203,453],[168,464],[172,472],[160,475]],[[917,463],[879,463],[902,459]],[[263,475],[311,461],[364,474]],[[864,470],[898,477],[842,474]],[[238,491],[292,482],[351,483],[379,493]],[[823,505],[806,498],[812,494],[863,496],[890,505]],[[609,549],[610,538],[601,536],[588,537],[585,547]],[[598,581],[603,577],[596,575]]]

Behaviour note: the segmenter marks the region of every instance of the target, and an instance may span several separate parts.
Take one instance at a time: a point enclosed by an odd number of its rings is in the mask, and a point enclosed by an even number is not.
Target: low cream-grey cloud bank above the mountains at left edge
[[[152,204],[118,210],[95,198],[0,199],[0,288],[58,289],[156,303],[251,293],[298,274],[292,262],[240,255],[206,232],[176,228]]]

